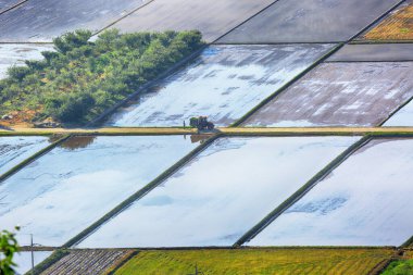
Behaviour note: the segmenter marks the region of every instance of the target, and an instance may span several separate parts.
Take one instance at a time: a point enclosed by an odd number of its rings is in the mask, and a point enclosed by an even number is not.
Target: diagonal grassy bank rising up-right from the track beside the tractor
[[[290,82],[285,84],[283,87],[277,89],[274,93],[272,93],[270,97],[261,101],[258,105],[255,105],[252,110],[250,110],[248,113],[246,113],[241,118],[233,123],[229,127],[238,127],[243,122],[246,122],[252,114],[258,112],[261,108],[263,108],[265,104],[267,104],[270,101],[272,101],[275,97],[277,97],[279,93],[285,91],[287,88],[292,86],[296,82],[298,82],[301,77],[303,77],[306,73],[312,71],[314,67],[316,67],[320,63],[322,63],[324,60],[328,59],[330,55],[333,55],[335,52],[337,52],[341,47],[343,47],[345,43],[338,43],[331,50],[329,50],[326,54],[317,59],[313,64],[311,64],[308,68],[305,68],[303,72],[295,76]]]

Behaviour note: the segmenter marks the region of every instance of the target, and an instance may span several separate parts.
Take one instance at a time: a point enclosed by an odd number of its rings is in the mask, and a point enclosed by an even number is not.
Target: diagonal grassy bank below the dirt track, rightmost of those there
[[[296,191],[286,201],[279,204],[274,211],[266,215],[260,223],[248,230],[234,246],[239,247],[245,242],[251,240],[260,232],[262,232],[266,226],[268,226],[275,218],[283,214],[289,207],[301,199],[305,193],[308,193],[320,180],[325,178],[333,170],[340,165],[345,160],[347,160],[354,151],[364,146],[370,141],[368,137],[361,138],[358,142],[349,147],[345,152],[338,155],[335,160],[327,164],[322,171],[320,171],[314,177],[312,177],[305,185],[303,185],[298,191]]]

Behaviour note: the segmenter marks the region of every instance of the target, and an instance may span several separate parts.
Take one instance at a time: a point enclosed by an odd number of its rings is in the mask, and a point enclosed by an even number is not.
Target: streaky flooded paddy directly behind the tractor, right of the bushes
[[[228,126],[334,45],[211,46],[190,65],[121,109],[113,126],[180,126],[208,115]],[[162,108],[160,108],[162,107]]]

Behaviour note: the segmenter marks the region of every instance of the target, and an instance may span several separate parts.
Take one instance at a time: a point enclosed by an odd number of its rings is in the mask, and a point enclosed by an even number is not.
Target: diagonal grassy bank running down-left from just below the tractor
[[[87,227],[85,230],[83,230],[80,234],[68,240],[65,245],[63,245],[64,248],[70,248],[72,246],[75,246],[76,243],[80,242],[83,239],[85,239],[87,236],[89,236],[91,233],[93,233],[96,229],[98,229],[102,224],[108,222],[113,216],[121,213],[123,210],[128,208],[130,204],[133,204],[135,201],[139,200],[143,196],[146,196],[149,191],[158,187],[163,180],[165,180],[167,177],[170,177],[173,173],[175,173],[177,170],[179,170],[182,166],[184,166],[187,162],[189,162],[196,154],[203,151],[208,146],[210,146],[212,142],[214,142],[220,135],[215,135],[209,139],[206,139],[203,143],[198,146],[196,149],[193,149],[191,152],[189,152],[187,155],[185,155],[183,159],[180,159],[178,162],[176,162],[174,165],[172,165],[170,168],[167,168],[165,172],[163,172],[161,175],[159,175],[155,179],[153,179],[151,183],[149,183],[147,186],[141,188],[139,191],[127,198],[125,201],[123,201],[121,204],[118,204],[116,208],[114,208],[112,211],[110,211],[108,214],[102,216],[100,220],[95,222],[92,225]]]

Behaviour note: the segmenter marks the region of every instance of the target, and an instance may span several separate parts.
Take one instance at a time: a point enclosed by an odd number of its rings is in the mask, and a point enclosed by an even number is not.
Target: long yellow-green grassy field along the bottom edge
[[[116,275],[368,274],[392,249],[268,248],[140,251]]]

